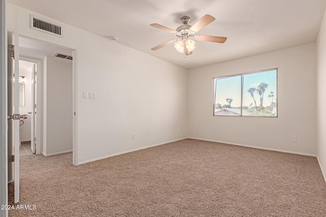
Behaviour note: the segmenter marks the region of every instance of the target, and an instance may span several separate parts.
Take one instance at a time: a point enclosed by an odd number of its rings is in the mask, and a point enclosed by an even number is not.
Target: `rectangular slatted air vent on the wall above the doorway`
[[[62,26],[47,22],[31,15],[31,28],[62,37]]]

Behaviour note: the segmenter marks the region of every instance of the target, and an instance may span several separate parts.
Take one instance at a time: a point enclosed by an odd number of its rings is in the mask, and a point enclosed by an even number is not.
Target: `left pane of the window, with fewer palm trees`
[[[241,75],[216,78],[214,115],[241,115]]]

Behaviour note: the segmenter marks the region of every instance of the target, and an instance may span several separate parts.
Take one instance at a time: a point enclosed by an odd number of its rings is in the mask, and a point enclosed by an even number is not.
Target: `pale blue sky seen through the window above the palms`
[[[276,90],[277,90],[277,70],[270,70],[259,73],[243,74],[243,106],[249,106],[251,103],[254,105],[254,100],[250,96],[248,89],[254,87],[257,88],[261,82],[267,83],[268,87],[264,93],[264,106],[269,106],[271,98],[268,98],[270,91],[273,91],[275,97],[273,101],[276,102]],[[226,99],[233,99],[231,106],[238,107],[241,105],[241,75],[230,76],[226,78],[218,78],[215,82],[216,95],[215,103],[222,105],[228,104]],[[257,92],[254,93],[257,106],[260,105],[260,97]]]

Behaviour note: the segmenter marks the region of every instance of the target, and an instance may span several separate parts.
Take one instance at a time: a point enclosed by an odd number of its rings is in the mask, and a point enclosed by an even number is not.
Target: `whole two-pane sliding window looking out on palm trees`
[[[277,117],[277,69],[213,78],[213,115]]]

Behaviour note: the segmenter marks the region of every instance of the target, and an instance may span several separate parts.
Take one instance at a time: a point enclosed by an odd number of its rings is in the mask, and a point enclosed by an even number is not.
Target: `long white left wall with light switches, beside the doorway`
[[[187,70],[40,14],[63,25],[63,38],[31,29],[31,13],[20,8],[21,35],[77,48],[78,163],[187,136]],[[97,99],[83,99],[83,91]]]

